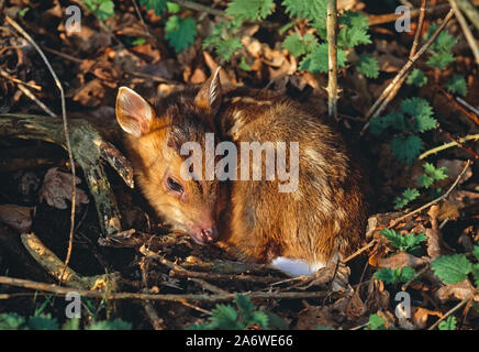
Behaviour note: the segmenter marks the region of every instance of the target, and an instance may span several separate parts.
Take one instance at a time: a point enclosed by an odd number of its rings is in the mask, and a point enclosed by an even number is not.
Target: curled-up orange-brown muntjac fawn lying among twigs
[[[360,172],[341,135],[286,96],[222,87],[216,70],[201,88],[155,106],[122,87],[116,119],[146,199],[196,242],[218,241],[238,260],[292,276],[311,275],[360,245]],[[197,150],[203,153],[193,158]]]

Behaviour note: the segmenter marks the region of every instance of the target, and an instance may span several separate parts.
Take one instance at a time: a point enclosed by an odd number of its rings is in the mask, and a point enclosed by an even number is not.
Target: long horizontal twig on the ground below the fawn
[[[225,294],[225,295],[198,295],[198,294],[185,294],[185,295],[154,295],[154,294],[133,294],[133,293],[104,293],[98,290],[86,290],[76,289],[71,287],[63,287],[53,284],[37,283],[30,279],[13,278],[8,276],[0,276],[0,284],[10,285],[15,287],[22,287],[27,289],[48,292],[55,295],[64,296],[68,293],[76,292],[81,297],[88,298],[102,298],[105,300],[114,299],[138,299],[138,300],[165,300],[165,301],[182,301],[182,300],[193,300],[193,301],[226,301],[233,300],[237,293]],[[323,292],[296,292],[296,293],[264,293],[264,292],[244,292],[242,295],[247,295],[252,299],[301,299],[301,298],[322,298],[325,293]]]

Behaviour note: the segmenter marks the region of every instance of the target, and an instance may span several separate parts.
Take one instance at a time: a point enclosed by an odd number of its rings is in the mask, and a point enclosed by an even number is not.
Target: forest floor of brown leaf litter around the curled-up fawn
[[[266,21],[244,25],[243,48],[230,62],[202,47],[209,29],[221,19],[215,11],[226,6],[225,1],[214,1],[212,7],[212,2],[198,1],[203,6],[198,10],[178,1],[183,4],[179,15],[192,16],[198,23],[194,42],[180,53],[165,38],[165,19],[144,7],[137,12],[136,2],[131,0],[114,1],[114,13],[104,21],[82,10],[79,33],[65,28],[66,8],[76,1],[7,0],[0,1],[0,11],[2,19],[13,19],[45,53],[63,85],[68,119],[89,121],[121,152],[114,116],[119,87],[131,87],[152,99],[177,87],[202,84],[219,65],[224,82],[318,102],[319,113],[327,113],[323,89],[327,76],[300,70],[299,61],[281,47],[285,34],[280,29],[290,21],[281,1],[276,1],[276,12]],[[420,8],[421,1],[411,2]],[[133,230],[116,242],[99,243],[105,237],[104,228],[82,168],[76,165],[79,183],[68,267],[81,277],[107,274],[112,293],[132,295],[103,299],[99,294],[83,299],[81,327],[121,319],[133,329],[185,329],[208,321],[212,314],[220,317],[218,304],[234,305],[232,297],[243,293],[249,295],[255,309],[274,314],[267,319],[269,327],[276,328],[479,328],[478,64],[453,16],[444,31],[455,40],[450,48],[454,59],[439,69],[428,64],[434,53],[425,52],[414,67],[427,82],[421,87],[404,82],[381,114],[401,109],[406,112],[402,102],[412,97],[424,99],[432,108],[435,125],[421,133],[420,142],[421,153],[432,152],[408,162],[408,156],[400,160],[401,151],[394,152],[391,143],[397,134],[387,129],[386,120],[379,128],[371,122],[378,133],[361,130],[369,108],[408,63],[417,16],[412,18],[410,32],[398,33],[393,13],[399,1],[338,3],[341,11],[361,11],[368,16],[371,38],[370,44],[348,52],[349,61],[338,78],[339,129],[360,152],[374,194],[364,248],[347,263],[352,266],[348,285],[333,292],[321,276],[288,279],[263,266],[235,263],[216,246],[199,246],[188,235],[170,233],[138,190],[130,188],[110,167],[105,172],[122,216],[121,227]],[[438,0],[428,1],[428,9],[433,11],[425,15],[423,33],[441,24],[449,7]],[[304,25],[297,20],[289,31],[301,32]],[[478,33],[472,25],[470,30]],[[60,121],[62,98],[51,72],[34,46],[8,21],[0,26],[0,114],[53,114],[52,119]],[[377,59],[377,77],[367,78],[355,68],[361,53]],[[450,80],[456,76],[464,80],[454,89]],[[4,131],[0,122],[0,317],[10,312],[32,317],[35,311],[40,315],[41,308],[43,315],[64,323],[65,292],[58,286],[58,267],[56,274],[48,274],[25,250],[25,237],[20,234],[34,233],[65,261],[71,164],[59,145],[5,138]],[[465,136],[470,139],[458,141]],[[456,144],[450,147],[434,150],[453,142]],[[15,284],[8,278],[25,282]],[[88,289],[81,285],[76,288]],[[403,292],[410,312],[405,318],[396,309],[403,297],[397,295]],[[157,299],[144,294],[157,295]],[[236,304],[239,310],[244,308],[237,297]],[[250,324],[253,329],[261,327],[257,319]]]

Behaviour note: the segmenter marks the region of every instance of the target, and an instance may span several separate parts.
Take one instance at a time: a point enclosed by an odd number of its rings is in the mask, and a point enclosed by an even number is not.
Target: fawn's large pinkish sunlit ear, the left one
[[[141,136],[151,131],[155,111],[152,106],[134,90],[120,87],[116,96],[116,120],[123,131]]]

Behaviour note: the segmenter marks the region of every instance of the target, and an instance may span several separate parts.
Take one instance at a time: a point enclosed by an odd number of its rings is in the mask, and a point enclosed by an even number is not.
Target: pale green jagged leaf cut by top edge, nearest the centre
[[[241,22],[257,21],[271,14],[274,9],[274,0],[233,0],[227,4],[226,14]]]

